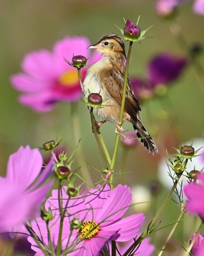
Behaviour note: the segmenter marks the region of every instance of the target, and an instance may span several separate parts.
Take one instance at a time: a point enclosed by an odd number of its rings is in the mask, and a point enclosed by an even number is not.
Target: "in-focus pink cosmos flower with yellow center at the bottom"
[[[99,188],[99,187],[98,187]],[[45,203],[47,209],[51,209],[54,219],[49,223],[52,244],[57,250],[59,234],[58,191],[52,191],[52,196]],[[69,196],[62,192],[63,206]],[[90,256],[99,255],[108,240],[129,241],[138,235],[140,226],[145,216],[143,213],[134,214],[122,218],[131,205],[132,195],[127,186],[118,185],[112,191],[105,185],[99,191],[92,189],[85,199],[69,200],[64,219],[62,232],[62,250],[67,248],[69,255]],[[82,223],[79,229],[71,229],[72,221],[78,219]],[[37,224],[36,224],[37,223]],[[40,218],[32,223],[33,230],[41,236],[44,248],[49,249],[47,240],[47,228]],[[96,229],[93,229],[96,227]],[[91,232],[87,230],[92,229]],[[37,247],[33,238],[28,238],[36,255],[44,255]]]

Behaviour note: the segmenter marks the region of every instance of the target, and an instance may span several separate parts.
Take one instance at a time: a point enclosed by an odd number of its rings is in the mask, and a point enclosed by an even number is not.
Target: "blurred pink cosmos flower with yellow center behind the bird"
[[[73,54],[88,58],[88,46],[90,42],[86,37],[65,37],[57,41],[52,52],[42,49],[27,54],[22,62],[23,72],[10,78],[13,87],[23,93],[19,101],[38,112],[53,109],[59,101],[77,101],[82,92],[78,72],[66,63],[64,57],[69,61]],[[87,64],[99,58],[95,53]],[[85,74],[86,68],[82,68],[82,78]]]

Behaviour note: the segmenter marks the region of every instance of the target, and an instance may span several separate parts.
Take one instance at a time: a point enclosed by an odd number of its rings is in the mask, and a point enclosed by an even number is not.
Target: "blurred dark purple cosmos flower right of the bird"
[[[187,58],[176,57],[169,53],[154,56],[147,65],[150,84],[168,84],[177,79],[187,65]]]

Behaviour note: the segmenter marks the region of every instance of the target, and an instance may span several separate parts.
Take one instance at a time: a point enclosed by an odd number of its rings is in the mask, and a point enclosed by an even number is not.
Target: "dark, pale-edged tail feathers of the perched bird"
[[[147,132],[147,130],[146,130],[145,126],[143,125],[143,123],[141,122],[141,120],[138,118],[138,120],[136,120],[136,122],[132,122],[132,123],[133,123],[133,127],[135,129],[135,132],[136,132],[138,138],[140,139],[140,142],[146,148],[146,150],[149,153],[152,153],[153,155],[158,154],[157,146],[154,143],[154,140],[150,136],[149,132]]]

